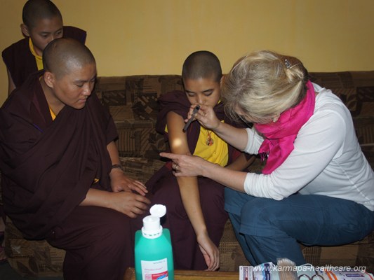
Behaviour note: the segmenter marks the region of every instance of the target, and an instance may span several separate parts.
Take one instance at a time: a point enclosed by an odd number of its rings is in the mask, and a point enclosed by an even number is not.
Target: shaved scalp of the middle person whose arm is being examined
[[[182,66],[183,80],[209,78],[219,82],[221,77],[222,69],[220,60],[213,52],[208,52],[207,50],[192,52]]]

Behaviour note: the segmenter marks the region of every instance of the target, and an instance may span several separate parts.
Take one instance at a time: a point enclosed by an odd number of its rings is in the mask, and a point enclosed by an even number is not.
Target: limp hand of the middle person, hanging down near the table
[[[208,237],[208,234],[197,236],[197,243],[199,244],[201,253],[203,253],[206,265],[208,266],[206,270],[217,270],[220,267],[220,250]]]

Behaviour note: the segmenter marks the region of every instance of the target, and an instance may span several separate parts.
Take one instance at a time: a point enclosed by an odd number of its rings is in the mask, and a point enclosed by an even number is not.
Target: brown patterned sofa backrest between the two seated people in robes
[[[95,92],[113,116],[120,156],[159,159],[166,144],[155,130],[157,100],[165,92],[182,88],[179,75],[98,78]]]

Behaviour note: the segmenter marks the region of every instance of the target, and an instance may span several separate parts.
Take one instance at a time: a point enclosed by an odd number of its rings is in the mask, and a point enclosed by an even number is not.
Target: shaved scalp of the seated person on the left
[[[43,52],[44,70],[61,78],[73,69],[95,64],[95,58],[86,45],[72,38],[58,38],[48,43]]]

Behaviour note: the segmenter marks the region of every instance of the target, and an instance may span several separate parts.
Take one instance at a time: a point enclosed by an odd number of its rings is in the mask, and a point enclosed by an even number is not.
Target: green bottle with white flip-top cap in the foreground
[[[166,207],[155,204],[149,212],[151,215],[143,218],[142,230],[135,232],[135,278],[174,280],[170,232],[160,225]]]

